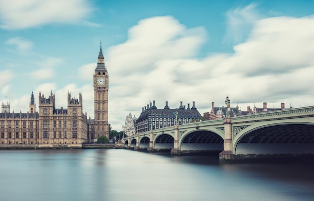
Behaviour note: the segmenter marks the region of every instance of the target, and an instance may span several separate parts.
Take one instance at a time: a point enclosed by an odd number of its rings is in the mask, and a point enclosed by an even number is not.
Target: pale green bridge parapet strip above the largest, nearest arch
[[[314,116],[314,106],[236,116],[232,117],[232,123],[243,121],[286,119],[302,116]]]

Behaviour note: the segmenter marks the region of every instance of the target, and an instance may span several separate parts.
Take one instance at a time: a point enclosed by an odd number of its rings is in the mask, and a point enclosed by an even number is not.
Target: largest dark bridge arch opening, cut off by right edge
[[[235,154],[314,153],[314,123],[252,125],[234,138]]]

